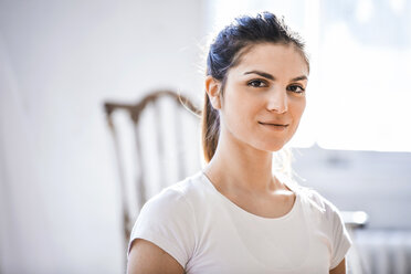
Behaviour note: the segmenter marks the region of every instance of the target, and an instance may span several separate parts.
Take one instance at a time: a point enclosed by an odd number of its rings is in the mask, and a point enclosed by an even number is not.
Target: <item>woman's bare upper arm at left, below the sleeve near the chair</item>
[[[128,274],[183,274],[182,266],[156,244],[136,239],[131,244]]]

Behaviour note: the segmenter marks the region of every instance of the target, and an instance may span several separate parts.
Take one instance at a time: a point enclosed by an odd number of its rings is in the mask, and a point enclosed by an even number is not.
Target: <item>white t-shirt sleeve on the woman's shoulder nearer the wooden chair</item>
[[[179,191],[166,189],[143,207],[130,234],[127,257],[136,239],[147,240],[179,262],[185,268],[194,246],[194,215]]]

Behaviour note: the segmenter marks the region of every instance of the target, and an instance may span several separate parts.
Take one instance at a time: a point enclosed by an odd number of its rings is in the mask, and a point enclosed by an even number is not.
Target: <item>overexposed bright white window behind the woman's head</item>
[[[312,75],[293,146],[411,151],[411,6],[405,3],[213,0],[209,30],[267,10],[302,33]]]

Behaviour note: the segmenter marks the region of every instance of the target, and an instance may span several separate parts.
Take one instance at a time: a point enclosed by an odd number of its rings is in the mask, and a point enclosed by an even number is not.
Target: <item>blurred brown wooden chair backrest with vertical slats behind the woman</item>
[[[200,110],[186,96],[157,91],[136,104],[106,102],[125,243],[144,203],[201,167]]]

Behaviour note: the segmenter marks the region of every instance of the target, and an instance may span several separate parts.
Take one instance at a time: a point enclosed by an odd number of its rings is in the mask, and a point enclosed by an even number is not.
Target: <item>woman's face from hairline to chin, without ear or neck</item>
[[[307,63],[294,45],[253,45],[228,72],[221,129],[256,149],[280,150],[298,127],[307,77]]]

